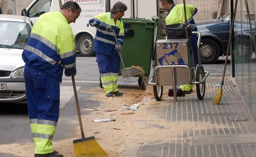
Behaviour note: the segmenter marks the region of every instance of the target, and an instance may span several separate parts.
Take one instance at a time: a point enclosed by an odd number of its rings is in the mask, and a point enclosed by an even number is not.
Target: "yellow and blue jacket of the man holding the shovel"
[[[106,31],[106,27],[103,26],[105,24],[109,24],[117,34],[118,44],[123,44],[123,21],[118,19],[117,24],[115,24],[112,13],[101,13],[100,15],[94,16],[94,18],[89,20],[89,24],[92,27],[97,27],[96,36],[94,39],[94,51],[105,55],[111,55],[112,51],[115,51],[113,46],[115,44],[114,33]],[[99,24],[102,25],[99,26]]]

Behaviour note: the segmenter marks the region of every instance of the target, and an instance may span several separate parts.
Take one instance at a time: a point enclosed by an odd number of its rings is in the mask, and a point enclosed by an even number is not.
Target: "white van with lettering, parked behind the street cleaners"
[[[33,0],[33,2],[23,9],[21,15],[29,17],[32,23],[36,22],[39,16],[45,12],[58,11],[60,6],[69,0]],[[125,3],[128,10],[123,18],[146,18],[151,19],[152,15],[157,15],[158,0],[73,0],[77,2],[82,11],[80,17],[71,23],[75,35],[75,47],[82,56],[94,56],[93,51],[94,37],[96,34],[95,27],[89,25],[89,20],[105,13],[106,8],[110,8],[115,2]],[[106,4],[107,3],[107,4]],[[146,4],[146,7],[145,7]]]

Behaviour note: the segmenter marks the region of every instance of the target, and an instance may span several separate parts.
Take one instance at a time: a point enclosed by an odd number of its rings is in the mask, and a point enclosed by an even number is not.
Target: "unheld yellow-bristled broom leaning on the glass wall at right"
[[[226,65],[228,63],[230,45],[231,45],[231,41],[232,41],[232,34],[233,34],[233,31],[234,31],[234,22],[235,22],[235,13],[236,13],[237,2],[238,2],[238,0],[235,0],[235,9],[234,9],[233,19],[232,19],[232,22],[231,22],[231,31],[229,33],[229,44],[228,44],[228,49],[227,49],[227,52],[226,52],[226,60],[225,60],[225,65],[224,65],[224,70],[223,70],[223,75],[222,75],[222,82],[221,82],[220,90],[217,93],[215,99],[213,100],[213,104],[215,104],[215,105],[219,104],[219,102],[222,98],[222,87],[223,87],[223,84],[224,84],[224,78],[225,78],[225,73],[226,73]]]

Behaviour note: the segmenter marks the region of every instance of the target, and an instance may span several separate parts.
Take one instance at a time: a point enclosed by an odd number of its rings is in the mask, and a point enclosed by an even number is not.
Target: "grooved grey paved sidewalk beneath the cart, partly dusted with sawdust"
[[[196,93],[177,103],[163,95],[141,105],[122,157],[256,157],[256,123],[230,77],[221,104],[212,103],[219,82],[207,80],[201,101]]]

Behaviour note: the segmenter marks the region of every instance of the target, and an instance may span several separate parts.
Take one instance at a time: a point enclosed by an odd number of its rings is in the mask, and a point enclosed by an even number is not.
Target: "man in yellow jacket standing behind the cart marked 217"
[[[184,6],[183,4],[174,4],[173,0],[160,0],[162,7],[168,11],[165,18],[166,24],[185,23]],[[187,24],[195,24],[193,16],[197,13],[197,8],[186,4]],[[197,31],[195,27],[192,31]],[[192,35],[192,51],[194,53],[194,66],[197,65],[197,35]],[[184,94],[190,94],[194,85],[181,85],[181,90]]]

